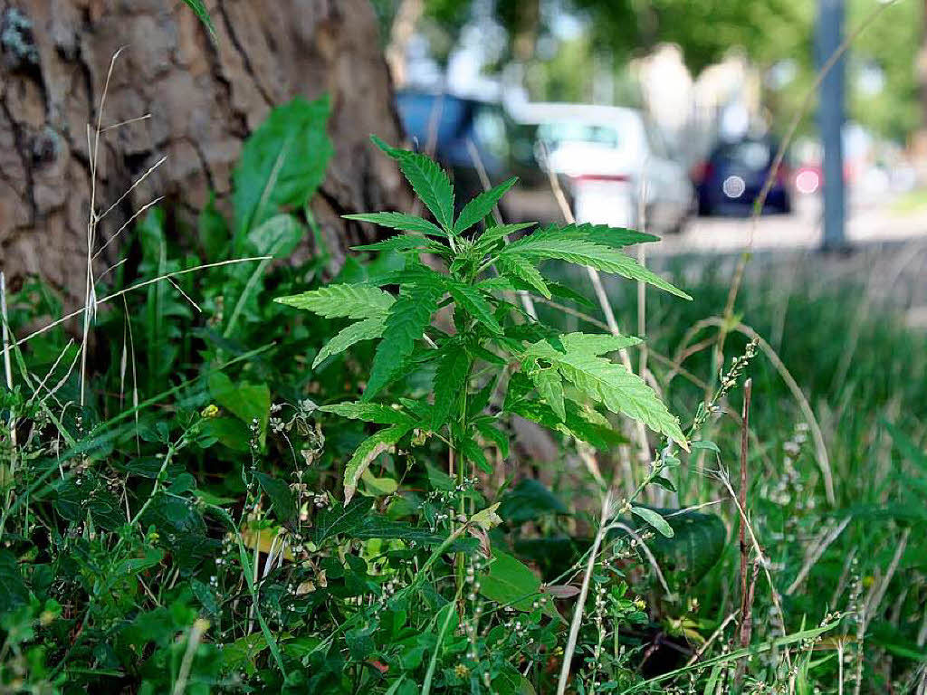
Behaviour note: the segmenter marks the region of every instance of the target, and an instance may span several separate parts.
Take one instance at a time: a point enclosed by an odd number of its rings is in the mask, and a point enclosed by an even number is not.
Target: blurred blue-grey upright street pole
[[[818,26],[815,31],[816,63],[821,69],[839,50],[843,41],[844,0],[819,0]],[[818,121],[824,145],[824,239],[825,251],[846,247],[844,225],[846,196],[844,188],[844,56],[833,65],[820,83]]]

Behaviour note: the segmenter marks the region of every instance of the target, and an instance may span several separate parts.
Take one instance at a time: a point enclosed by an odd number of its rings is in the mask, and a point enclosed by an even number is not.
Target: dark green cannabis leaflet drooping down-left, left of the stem
[[[374,398],[389,383],[403,363],[413,353],[415,342],[420,340],[438,310],[438,297],[443,293],[434,287],[413,285],[403,288],[399,299],[389,308],[383,339],[376,346],[374,364],[370,370],[363,400]]]

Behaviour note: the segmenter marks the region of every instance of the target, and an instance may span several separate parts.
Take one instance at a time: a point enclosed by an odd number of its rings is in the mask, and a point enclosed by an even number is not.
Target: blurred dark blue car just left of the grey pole
[[[749,215],[772,169],[779,144],[771,137],[748,137],[716,145],[692,170],[699,215]],[[769,189],[764,212],[789,213],[792,196],[785,163]]]

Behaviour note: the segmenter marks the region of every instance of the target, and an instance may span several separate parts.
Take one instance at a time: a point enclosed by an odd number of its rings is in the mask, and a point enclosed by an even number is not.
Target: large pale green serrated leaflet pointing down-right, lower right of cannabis
[[[527,354],[532,359],[550,361],[567,381],[609,411],[639,420],[688,449],[679,421],[667,411],[654,389],[624,366],[590,352],[560,352],[546,341],[528,347]]]

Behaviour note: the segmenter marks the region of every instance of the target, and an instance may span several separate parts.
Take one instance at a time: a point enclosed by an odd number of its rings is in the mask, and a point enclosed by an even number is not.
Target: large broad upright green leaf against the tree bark
[[[248,137],[233,173],[238,234],[315,193],[335,152],[325,132],[328,115],[327,96],[312,102],[297,96]]]

